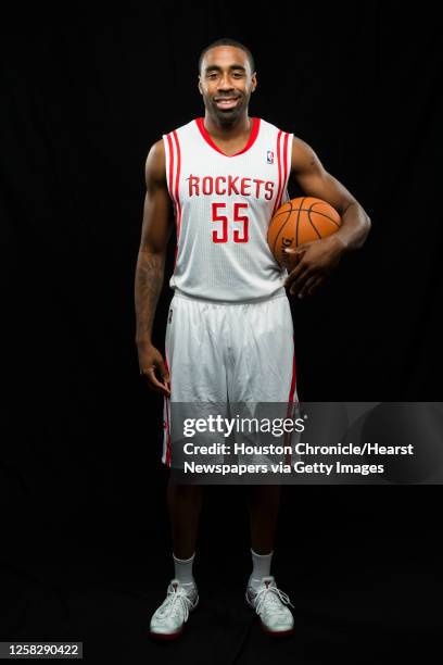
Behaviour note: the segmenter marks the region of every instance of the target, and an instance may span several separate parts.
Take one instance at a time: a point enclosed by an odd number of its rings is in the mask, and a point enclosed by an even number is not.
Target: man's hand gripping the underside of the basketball
[[[284,286],[291,296],[312,296],[337,267],[345,251],[344,242],[334,234],[327,238],[283,250],[289,273]]]

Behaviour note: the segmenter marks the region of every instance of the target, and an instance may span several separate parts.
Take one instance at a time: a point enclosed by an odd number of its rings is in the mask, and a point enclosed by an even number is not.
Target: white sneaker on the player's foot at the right
[[[262,630],[273,636],[292,635],[294,617],[286,605],[293,607],[289,597],[277,589],[273,576],[263,577],[258,589],[246,588],[246,603],[253,607],[261,619]]]

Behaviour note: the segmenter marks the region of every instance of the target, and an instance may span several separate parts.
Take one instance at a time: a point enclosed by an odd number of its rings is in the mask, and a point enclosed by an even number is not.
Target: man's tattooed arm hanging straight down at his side
[[[169,376],[163,356],[152,344],[152,326],[164,280],[167,242],[173,230],[173,206],[166,185],[163,140],[154,143],[145,164],[147,193],[135,279],[136,344],[140,373],[154,390],[169,394]],[[163,382],[155,376],[155,369]]]

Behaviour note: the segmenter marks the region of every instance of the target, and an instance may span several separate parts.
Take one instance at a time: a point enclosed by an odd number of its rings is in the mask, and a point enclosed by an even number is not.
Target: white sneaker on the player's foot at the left
[[[150,632],[161,640],[175,640],[183,631],[189,613],[199,604],[199,592],[195,586],[190,591],[180,585],[178,579],[172,579],[167,595],[152,615]]]

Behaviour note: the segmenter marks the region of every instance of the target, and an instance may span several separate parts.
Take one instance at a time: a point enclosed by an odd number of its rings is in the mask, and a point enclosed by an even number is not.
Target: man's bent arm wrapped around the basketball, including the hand
[[[303,298],[318,289],[345,252],[363,246],[371,223],[352,193],[325,170],[314,150],[298,137],[292,143],[291,171],[306,196],[327,201],[342,218],[341,227],[332,236],[287,251],[293,267],[287,286],[292,294]]]

